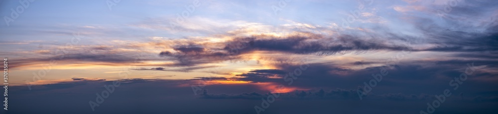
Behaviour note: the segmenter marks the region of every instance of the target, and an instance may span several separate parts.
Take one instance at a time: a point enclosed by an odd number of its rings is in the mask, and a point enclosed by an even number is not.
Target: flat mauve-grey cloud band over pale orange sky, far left
[[[76,48],[70,49],[67,47],[62,47],[61,49],[54,49],[48,56],[36,56],[36,57],[24,57],[24,58],[14,58],[12,60],[11,68],[17,68],[21,66],[36,65],[36,64],[79,64],[79,63],[89,63],[100,65],[129,65],[133,63],[140,63],[142,61],[148,60],[159,60],[157,58],[151,58],[141,55],[141,53],[130,53],[123,52],[117,53],[115,51],[108,50],[109,47],[88,47],[88,48]],[[99,49],[92,49],[99,48]],[[100,48],[105,48],[105,50],[100,50]]]

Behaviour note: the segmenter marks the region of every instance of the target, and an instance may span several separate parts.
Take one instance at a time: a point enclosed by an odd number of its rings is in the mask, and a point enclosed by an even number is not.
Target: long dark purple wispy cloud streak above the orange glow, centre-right
[[[389,45],[381,40],[365,40],[360,36],[344,35],[335,38],[325,38],[314,34],[307,36],[289,36],[286,38],[263,39],[246,38],[243,39],[250,47],[244,48],[242,52],[254,50],[277,51],[294,54],[319,54],[334,55],[341,51],[374,51],[374,50],[409,50],[409,47]]]

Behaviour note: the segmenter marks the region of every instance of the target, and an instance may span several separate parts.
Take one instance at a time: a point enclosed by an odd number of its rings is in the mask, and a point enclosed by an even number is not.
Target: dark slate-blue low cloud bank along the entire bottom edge
[[[173,114],[250,113],[254,112],[254,106],[260,106],[261,99],[266,99],[268,95],[274,94],[258,91],[249,85],[207,85],[204,89],[209,89],[209,91],[202,90],[195,96],[190,86],[178,86],[191,83],[190,81],[194,80],[88,80],[33,85],[32,90],[28,90],[26,86],[9,86],[9,93],[11,92],[9,101],[15,102],[9,102],[8,111],[16,114],[45,111],[64,114],[67,111],[75,110],[78,112],[74,112],[74,114],[108,114],[109,112],[163,113],[164,110]],[[96,94],[107,90],[104,85],[111,85],[113,82],[120,82],[121,85],[115,87],[113,93],[104,99],[105,101],[99,107],[96,107],[95,111],[92,111],[88,102],[95,101]],[[465,84],[465,86],[471,86],[467,85],[471,83],[465,82]],[[418,88],[427,87],[419,86]],[[379,88],[374,88],[374,90],[376,89],[378,90]],[[455,96],[457,96],[456,93]],[[496,108],[493,107],[497,105],[496,97],[494,97],[497,96],[496,94],[489,95],[488,93],[486,96],[466,94],[466,96],[464,96],[464,99],[460,99],[460,97],[447,98],[446,102],[442,104],[444,107],[438,108],[438,111],[451,112],[456,110],[455,112],[479,112],[483,114],[496,112],[494,110]],[[39,99],[40,97],[44,99]],[[307,112],[314,113],[329,112],[330,108],[321,106],[344,109],[345,111],[338,111],[343,113],[351,113],[351,111],[361,113],[390,113],[392,111],[417,113],[427,107],[426,103],[433,100],[436,100],[434,94],[392,92],[386,94],[372,93],[366,99],[359,100],[356,89],[311,89],[280,93],[279,97],[270,104],[271,108],[268,108],[264,113],[285,112],[292,114],[292,112],[303,109],[309,109],[310,111]],[[130,102],[135,104],[135,109],[116,110],[120,107],[126,107],[126,103]],[[171,102],[175,102],[175,104]],[[212,104],[216,104],[216,107],[208,107]],[[309,105],[300,106],[298,109],[288,109],[288,107],[295,106],[295,104]],[[43,107],[46,105],[50,105],[50,107]],[[466,106],[466,108],[460,108],[462,106]],[[376,110],[372,110],[372,108]],[[401,109],[397,110],[399,108]],[[291,112],[288,112],[288,110],[291,110]]]

